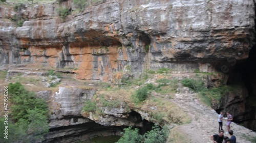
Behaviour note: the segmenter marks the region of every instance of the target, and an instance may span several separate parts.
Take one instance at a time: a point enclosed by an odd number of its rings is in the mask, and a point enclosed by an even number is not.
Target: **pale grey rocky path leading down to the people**
[[[191,143],[212,142],[209,136],[218,133],[219,128],[218,113],[214,109],[200,103],[195,93],[176,94],[173,99],[169,100],[183,108],[191,117],[192,121],[190,124],[178,127],[178,130],[185,134]],[[223,121],[223,129],[226,132],[225,125],[226,121]],[[246,140],[244,136],[256,136],[255,132],[233,122],[230,128],[233,130],[234,135],[236,135],[237,142],[240,143],[251,142]],[[224,135],[230,137],[229,134]]]

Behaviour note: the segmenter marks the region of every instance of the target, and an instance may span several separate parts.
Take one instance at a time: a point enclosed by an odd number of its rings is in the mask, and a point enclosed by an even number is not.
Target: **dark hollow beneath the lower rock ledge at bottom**
[[[73,120],[75,120],[74,117]],[[135,123],[135,125],[140,125],[133,128],[139,129],[139,134],[141,135],[152,130],[152,127],[154,126],[154,123],[143,120],[140,114],[136,111],[130,112],[129,117],[126,120]],[[81,143],[95,143],[103,141],[114,143],[118,141],[121,137],[121,132],[127,127],[128,126],[103,126],[91,120],[87,123],[51,128],[49,134],[46,136],[46,140],[43,142],[68,143],[77,141]]]

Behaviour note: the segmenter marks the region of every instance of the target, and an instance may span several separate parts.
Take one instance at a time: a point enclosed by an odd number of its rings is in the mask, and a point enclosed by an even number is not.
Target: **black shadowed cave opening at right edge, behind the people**
[[[248,93],[244,96],[245,107],[243,112],[234,113],[233,122],[239,123],[256,131],[256,46],[249,51],[249,57],[238,61],[229,72],[227,84],[240,84]],[[231,109],[232,110],[232,109]]]

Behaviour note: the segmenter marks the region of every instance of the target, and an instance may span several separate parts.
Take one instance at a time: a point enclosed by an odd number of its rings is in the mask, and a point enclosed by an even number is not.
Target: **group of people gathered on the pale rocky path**
[[[236,136],[233,135],[233,131],[230,130],[230,124],[233,120],[232,115],[230,115],[229,112],[226,112],[227,114],[227,119],[223,118],[223,112],[220,112],[220,115],[218,116],[218,122],[219,122],[219,134],[211,135],[210,138],[214,143],[236,143],[237,139]],[[222,121],[226,120],[227,121],[227,132],[226,134],[229,133],[230,138],[224,135],[224,130],[222,129]]]

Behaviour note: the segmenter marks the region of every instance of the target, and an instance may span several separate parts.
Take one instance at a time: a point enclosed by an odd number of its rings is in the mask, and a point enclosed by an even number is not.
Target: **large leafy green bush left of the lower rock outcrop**
[[[44,135],[49,132],[48,107],[44,100],[36,97],[35,93],[24,89],[23,85],[8,84],[11,99],[11,116],[15,125],[27,135],[22,142],[38,142],[44,140]],[[20,141],[20,140],[19,140]]]

